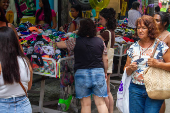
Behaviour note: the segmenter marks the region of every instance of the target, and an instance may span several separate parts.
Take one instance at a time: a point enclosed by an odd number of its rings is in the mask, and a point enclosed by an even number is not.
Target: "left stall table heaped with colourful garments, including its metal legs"
[[[46,24],[33,25],[30,22],[21,23],[16,30],[23,51],[32,62],[33,73],[42,76],[39,106],[34,106],[33,111],[42,113],[47,111],[52,112],[50,109],[43,108],[44,76],[59,78],[61,89],[72,86],[74,82],[74,57],[70,56],[71,53],[67,51],[67,49],[55,47],[55,43],[69,38],[76,38],[76,35],[74,33],[65,34],[64,32],[56,31]],[[69,97],[74,93],[74,88],[71,90],[71,92],[68,92]],[[69,106],[75,106],[71,104],[72,98],[74,97],[71,96],[71,99],[66,103],[63,100],[66,99],[66,97],[56,102],[62,104],[62,111],[67,111]],[[76,108],[75,111],[78,112],[78,109]]]

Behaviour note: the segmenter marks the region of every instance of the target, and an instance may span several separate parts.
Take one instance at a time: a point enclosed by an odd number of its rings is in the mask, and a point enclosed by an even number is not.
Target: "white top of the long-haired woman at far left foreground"
[[[28,82],[30,81],[30,70],[26,61],[24,63],[21,57],[18,57],[19,71],[21,82],[26,90],[28,90]],[[26,66],[25,66],[26,64]],[[19,83],[4,84],[3,73],[0,74],[0,98],[11,98],[25,95],[24,90]]]

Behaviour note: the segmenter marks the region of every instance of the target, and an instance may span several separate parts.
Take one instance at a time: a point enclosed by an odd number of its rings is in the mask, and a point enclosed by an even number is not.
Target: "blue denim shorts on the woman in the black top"
[[[94,94],[107,97],[107,85],[103,68],[78,69],[75,73],[76,98]]]

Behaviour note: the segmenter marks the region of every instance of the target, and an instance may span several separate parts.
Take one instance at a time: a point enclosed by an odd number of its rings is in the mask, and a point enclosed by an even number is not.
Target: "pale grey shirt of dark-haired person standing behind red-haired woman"
[[[141,14],[139,11],[135,9],[131,9],[128,11],[128,27],[136,28],[135,22],[138,18],[141,17]]]

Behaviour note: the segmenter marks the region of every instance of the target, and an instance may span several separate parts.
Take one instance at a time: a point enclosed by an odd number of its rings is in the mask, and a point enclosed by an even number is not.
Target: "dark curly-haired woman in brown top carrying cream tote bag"
[[[103,27],[105,27],[105,29],[100,31],[100,35],[98,35],[98,37],[103,39],[103,41],[105,42],[105,45],[107,46],[108,42],[109,42],[109,32],[105,31],[105,30],[109,30],[111,33],[111,48],[113,48],[114,43],[115,43],[115,32],[114,32],[114,30],[116,29],[115,16],[116,16],[116,11],[113,8],[104,8],[99,13],[99,19],[100,19],[99,23],[101,23],[101,25]],[[112,58],[112,60],[113,60],[113,58]],[[113,96],[110,92],[110,75],[112,73],[112,66],[113,66],[113,63],[109,63],[108,70],[107,70],[108,97],[105,98],[106,105],[109,109],[109,113],[113,113],[113,106],[114,106]]]

